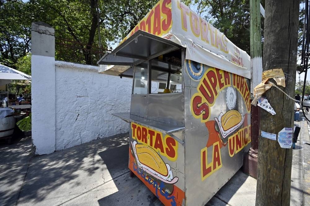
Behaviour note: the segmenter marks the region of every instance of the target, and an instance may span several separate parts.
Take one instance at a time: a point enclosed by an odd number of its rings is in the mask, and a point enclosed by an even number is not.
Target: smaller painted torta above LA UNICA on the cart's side
[[[215,119],[215,130],[219,132],[223,144],[227,144],[228,137],[237,131],[243,124],[244,115],[237,110],[229,110],[225,114],[221,112]]]

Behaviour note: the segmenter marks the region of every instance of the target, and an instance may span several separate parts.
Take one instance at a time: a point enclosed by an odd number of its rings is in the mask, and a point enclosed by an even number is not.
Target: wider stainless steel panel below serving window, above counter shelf
[[[149,94],[148,119],[184,127],[184,92]]]

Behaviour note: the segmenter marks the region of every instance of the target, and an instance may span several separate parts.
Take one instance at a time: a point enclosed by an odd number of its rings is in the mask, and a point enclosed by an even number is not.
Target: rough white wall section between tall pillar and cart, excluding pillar
[[[61,61],[55,71],[56,150],[128,132],[129,124],[111,113],[129,112],[132,79]]]

